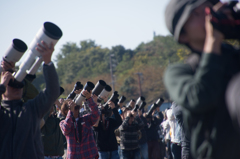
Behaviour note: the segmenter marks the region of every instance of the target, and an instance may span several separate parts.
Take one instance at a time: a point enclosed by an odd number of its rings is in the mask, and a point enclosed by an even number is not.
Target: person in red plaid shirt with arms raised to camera
[[[70,110],[67,117],[60,122],[60,128],[67,139],[67,159],[93,159],[98,156],[92,131],[92,126],[99,118],[97,104],[93,99],[97,96],[91,97],[91,91],[87,90],[84,90],[82,94],[86,98],[85,103],[89,105],[91,113],[80,116],[80,106],[70,100],[68,103]]]

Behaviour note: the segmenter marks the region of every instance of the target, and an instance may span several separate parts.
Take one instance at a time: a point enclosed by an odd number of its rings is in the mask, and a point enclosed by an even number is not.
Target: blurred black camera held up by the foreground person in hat
[[[214,12],[211,9],[211,23],[215,29],[224,34],[225,39],[240,40],[240,3],[232,1],[224,7],[231,10],[233,20],[229,19],[221,10]]]

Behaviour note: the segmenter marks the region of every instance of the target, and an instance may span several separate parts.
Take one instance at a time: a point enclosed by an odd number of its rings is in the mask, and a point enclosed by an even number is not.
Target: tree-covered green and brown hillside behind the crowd
[[[156,36],[148,43],[139,44],[135,50],[126,50],[122,45],[102,48],[95,41],[85,40],[79,46],[70,42],[64,44],[55,63],[60,85],[65,89],[63,96],[68,95],[76,81],[84,83],[104,79],[110,84],[111,59],[115,90],[129,99],[138,98],[136,73],[141,72],[142,94],[147,102],[153,102],[160,96],[169,98],[162,81],[164,69],[169,63],[183,62],[189,53],[172,36]],[[33,83],[40,90],[45,86],[42,72],[37,76]]]

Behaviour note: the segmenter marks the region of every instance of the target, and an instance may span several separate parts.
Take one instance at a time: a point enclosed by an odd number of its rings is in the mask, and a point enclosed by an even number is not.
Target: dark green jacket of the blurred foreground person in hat
[[[222,55],[193,53],[192,61],[167,68],[164,83],[183,107],[194,158],[239,158],[240,137],[225,104],[229,80],[240,71],[239,53],[224,45]],[[200,62],[198,62],[200,61]]]

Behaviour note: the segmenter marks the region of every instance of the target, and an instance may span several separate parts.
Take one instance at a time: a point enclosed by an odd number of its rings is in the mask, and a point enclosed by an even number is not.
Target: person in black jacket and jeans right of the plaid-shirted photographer
[[[100,120],[93,126],[93,130],[96,135],[99,159],[119,159],[114,131],[122,124],[122,119],[115,104],[112,101],[109,101],[108,104],[115,118],[106,116],[106,112],[102,108]]]

